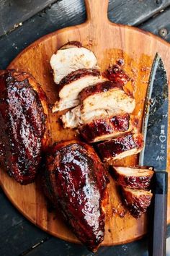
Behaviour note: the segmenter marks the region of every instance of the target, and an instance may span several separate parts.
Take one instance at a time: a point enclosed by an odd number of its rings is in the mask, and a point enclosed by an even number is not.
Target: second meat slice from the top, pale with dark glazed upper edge
[[[79,105],[79,93],[82,89],[102,81],[97,69],[78,69],[63,77],[59,84],[59,101],[53,106],[53,113]]]

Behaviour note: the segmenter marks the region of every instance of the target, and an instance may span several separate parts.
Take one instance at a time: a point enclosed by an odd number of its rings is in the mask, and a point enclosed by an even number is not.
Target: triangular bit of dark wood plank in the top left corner
[[[40,12],[56,0],[0,0],[0,35]],[[6,18],[7,17],[7,18]]]

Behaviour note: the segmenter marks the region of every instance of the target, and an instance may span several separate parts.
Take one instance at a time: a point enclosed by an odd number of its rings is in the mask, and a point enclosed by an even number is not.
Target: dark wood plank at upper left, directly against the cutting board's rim
[[[3,51],[0,51],[0,69],[6,68],[9,62],[19,54],[19,51],[42,35],[86,20],[85,9],[82,9],[83,0],[81,2],[72,0],[73,6],[71,5],[71,7],[66,3],[64,5],[64,2],[59,1],[53,4],[46,12],[40,12],[24,22],[21,27],[17,27],[16,30],[0,38],[0,46],[3,48]],[[71,13],[73,12],[74,16],[72,17]]]

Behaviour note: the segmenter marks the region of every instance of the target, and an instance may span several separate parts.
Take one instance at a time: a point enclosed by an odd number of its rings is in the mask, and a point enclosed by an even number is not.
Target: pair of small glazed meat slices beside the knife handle
[[[114,167],[111,174],[122,190],[122,199],[135,218],[146,212],[151,204],[151,186],[153,168],[151,167]]]

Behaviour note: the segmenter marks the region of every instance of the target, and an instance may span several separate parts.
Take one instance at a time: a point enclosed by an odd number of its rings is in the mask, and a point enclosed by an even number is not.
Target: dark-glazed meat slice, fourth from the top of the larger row
[[[79,127],[79,132],[89,142],[99,142],[120,136],[126,132],[138,132],[138,118],[130,114],[94,119]]]

